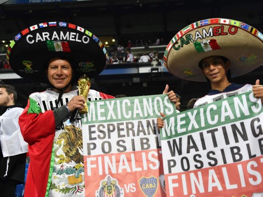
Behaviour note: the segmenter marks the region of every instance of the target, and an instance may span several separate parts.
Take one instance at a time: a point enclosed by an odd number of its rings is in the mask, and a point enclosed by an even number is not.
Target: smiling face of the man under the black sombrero
[[[72,79],[73,70],[70,63],[66,60],[51,60],[47,67],[47,78],[57,89],[65,88]]]

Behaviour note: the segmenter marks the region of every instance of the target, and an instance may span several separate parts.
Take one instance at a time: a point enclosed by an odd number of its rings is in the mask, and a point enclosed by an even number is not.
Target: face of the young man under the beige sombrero
[[[220,83],[227,80],[226,72],[229,70],[230,62],[226,63],[220,56],[210,56],[201,61],[202,72],[211,83]]]

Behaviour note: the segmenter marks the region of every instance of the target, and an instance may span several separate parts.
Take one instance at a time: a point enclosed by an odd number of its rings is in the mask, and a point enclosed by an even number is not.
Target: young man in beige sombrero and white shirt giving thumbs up
[[[230,19],[207,19],[190,24],[168,44],[164,63],[175,76],[189,81],[209,81],[212,90],[194,107],[252,90],[263,103],[263,86],[230,83],[231,77],[263,64],[263,34]],[[164,114],[161,114],[164,116]],[[162,119],[157,120],[163,127]]]

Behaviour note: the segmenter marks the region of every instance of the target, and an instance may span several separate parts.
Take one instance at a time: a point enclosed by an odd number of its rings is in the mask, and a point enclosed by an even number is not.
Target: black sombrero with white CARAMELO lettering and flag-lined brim
[[[73,62],[76,81],[84,74],[89,78],[99,75],[108,60],[98,37],[66,22],[40,23],[23,30],[13,38],[6,53],[15,73],[40,83],[47,83],[45,68],[55,57]]]

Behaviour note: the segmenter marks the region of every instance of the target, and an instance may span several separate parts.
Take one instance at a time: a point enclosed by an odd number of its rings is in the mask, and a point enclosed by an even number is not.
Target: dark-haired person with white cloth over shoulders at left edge
[[[23,105],[17,104],[11,85],[0,85],[0,191],[2,197],[14,197],[16,185],[25,180],[28,144],[21,134],[18,118]]]

